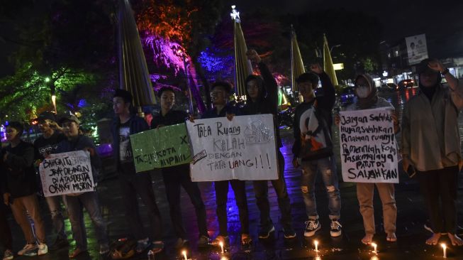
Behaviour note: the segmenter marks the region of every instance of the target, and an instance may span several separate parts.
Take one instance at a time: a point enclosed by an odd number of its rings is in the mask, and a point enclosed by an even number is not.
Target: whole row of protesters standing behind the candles
[[[260,76],[250,75],[246,78],[246,104],[235,107],[228,103],[232,87],[228,82],[215,82],[211,87],[213,109],[201,115],[201,119],[228,117],[233,121],[234,116],[252,114],[273,114],[277,119],[278,86],[255,50],[250,50],[248,58],[257,65]],[[296,107],[294,117],[294,153],[293,164],[301,168],[301,192],[306,205],[305,237],[312,237],[320,230],[319,216],[315,198],[315,183],[317,172],[320,172],[328,195],[328,210],[330,219],[330,235],[342,235],[340,224],[341,199],[338,188],[338,174],[335,167],[333,142],[331,140],[331,126],[333,124],[333,107],[335,105],[335,89],[328,75],[320,65],[311,65],[311,72],[300,75],[296,82],[303,102]],[[398,116],[391,112],[394,121],[394,134],[401,131],[401,154],[403,168],[407,172],[415,171],[420,187],[425,197],[428,213],[432,222],[433,236],[427,244],[437,244],[442,234],[461,246],[462,239],[457,237],[457,175],[462,166],[462,156],[459,147],[459,129],[457,117],[463,108],[463,85],[459,84],[448,70],[437,60],[423,60],[418,65],[420,77],[420,92],[412,97],[403,110],[400,127]],[[449,87],[443,87],[441,75],[445,77]],[[321,93],[315,94],[318,83],[321,82]],[[355,80],[356,102],[347,110],[372,109],[377,107],[394,107],[385,99],[378,97],[374,82],[369,75],[359,75]],[[113,96],[113,110],[116,118],[113,123],[113,154],[116,159],[120,191],[125,217],[130,235],[136,239],[135,251],[142,253],[146,249],[157,254],[164,249],[162,220],[157,207],[155,192],[152,189],[152,179],[149,172],[136,173],[130,146],[131,134],[148,129],[158,129],[163,126],[179,124],[196,118],[186,112],[174,110],[176,92],[163,87],[157,92],[160,98],[160,113],[155,115],[151,125],[143,118],[131,114],[132,95],[125,90],[116,90]],[[432,116],[431,116],[432,115]],[[316,134],[307,128],[310,117],[316,117],[318,128],[316,132],[323,133],[325,146],[313,150],[309,148],[306,136]],[[334,123],[340,124],[340,117],[334,114]],[[98,180],[101,161],[93,141],[87,136],[79,134],[80,121],[73,115],[66,115],[59,120],[51,113],[43,113],[37,119],[43,136],[35,140],[34,144],[21,140],[23,126],[18,122],[10,122],[6,127],[6,138],[9,146],[0,153],[0,181],[4,205],[11,207],[13,217],[23,230],[26,246],[17,252],[18,255],[47,254],[45,244],[45,227],[40,217],[36,180],[36,167],[50,153],[64,153],[69,151],[88,151],[91,158],[91,168],[94,182]],[[276,124],[277,125],[277,124]],[[279,129],[275,127],[277,147],[281,147]],[[296,237],[292,227],[291,203],[284,178],[284,157],[277,149],[279,178],[272,180],[272,186],[278,197],[281,212],[281,228],[285,239]],[[250,173],[252,174],[252,173]],[[208,235],[206,222],[206,207],[201,197],[197,183],[191,181],[189,165],[162,168],[167,201],[169,202],[170,217],[177,241],[176,249],[181,249],[188,242],[187,231],[182,221],[182,200],[180,189],[184,188],[194,205],[197,226],[199,229],[199,247],[209,244],[219,244],[228,247],[227,200],[228,188],[231,186],[235,194],[241,225],[241,244],[250,245],[249,213],[247,194],[244,180],[222,180],[214,182],[216,191],[216,215],[218,220],[218,235],[211,239]],[[270,217],[268,181],[253,181],[257,207],[260,210],[260,229],[258,237],[267,239],[275,231],[275,225]],[[376,232],[373,214],[373,195],[376,186],[381,198],[384,214],[384,231],[388,242],[396,242],[396,201],[394,199],[394,184],[391,183],[357,183],[357,198],[364,222],[365,236],[362,243],[372,243]],[[150,226],[143,227],[138,210],[138,197],[146,207]],[[89,213],[94,224],[96,237],[100,245],[100,254],[109,251],[106,222],[101,216],[98,194],[96,191],[46,197],[52,224],[56,233],[56,240],[50,249],[67,247],[69,242],[65,234],[62,203],[67,209],[72,234],[76,241],[75,249],[69,254],[74,258],[87,251],[87,236],[83,222],[83,207]],[[4,260],[13,259],[12,239],[9,224],[6,220],[6,209],[0,207],[0,243],[6,247]],[[31,227],[30,219],[33,221]]]

